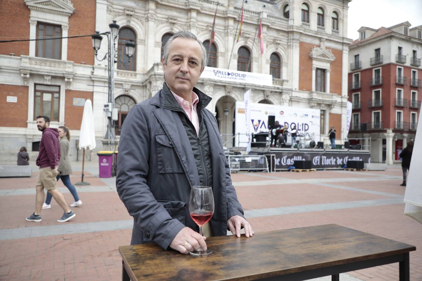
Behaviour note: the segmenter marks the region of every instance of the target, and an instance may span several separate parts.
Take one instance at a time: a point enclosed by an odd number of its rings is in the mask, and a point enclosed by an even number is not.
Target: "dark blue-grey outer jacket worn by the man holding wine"
[[[197,88],[193,91],[204,107],[211,100]],[[164,83],[152,98],[133,106],[122,126],[116,187],[133,217],[132,245],[155,242],[168,249],[183,227],[198,231],[187,203],[191,186],[199,185],[200,179],[189,138],[170,99],[174,97]],[[227,219],[243,217],[243,210],[232,185],[217,121],[205,108],[202,116],[202,126],[208,131],[215,205],[210,226],[214,236],[223,236]]]

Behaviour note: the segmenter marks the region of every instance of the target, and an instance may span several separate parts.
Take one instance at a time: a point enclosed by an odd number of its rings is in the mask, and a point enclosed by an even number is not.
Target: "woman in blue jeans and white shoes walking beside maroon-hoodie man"
[[[70,142],[70,132],[69,129],[65,126],[60,126],[58,129],[59,131],[59,143],[60,143],[60,161],[59,161],[59,168],[57,170],[59,171],[59,174],[57,175],[56,179],[57,181],[59,179],[62,179],[62,182],[65,184],[65,186],[68,188],[70,193],[73,195],[73,199],[75,199],[75,202],[70,204],[70,207],[76,207],[82,205],[82,201],[79,200],[78,192],[76,191],[75,186],[72,185],[70,182],[69,175],[72,174],[72,168],[70,167],[70,161],[68,158],[69,153],[69,142]],[[43,203],[43,209],[51,209],[51,198],[53,195],[50,193],[47,193],[46,202]]]

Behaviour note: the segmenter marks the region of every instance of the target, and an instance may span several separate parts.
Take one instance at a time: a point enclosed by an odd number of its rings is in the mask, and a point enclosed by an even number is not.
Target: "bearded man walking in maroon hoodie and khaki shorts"
[[[70,210],[68,204],[63,197],[63,194],[56,189],[57,184],[57,167],[60,160],[60,145],[59,145],[59,131],[56,128],[49,128],[50,118],[47,116],[37,116],[37,127],[39,131],[43,132],[40,142],[40,151],[36,161],[37,166],[40,167],[37,184],[35,189],[37,195],[35,199],[35,212],[27,217],[27,221],[41,222],[41,208],[43,207],[45,194],[44,189],[53,195],[54,200],[62,207],[65,213],[58,222],[67,222],[76,214]]]

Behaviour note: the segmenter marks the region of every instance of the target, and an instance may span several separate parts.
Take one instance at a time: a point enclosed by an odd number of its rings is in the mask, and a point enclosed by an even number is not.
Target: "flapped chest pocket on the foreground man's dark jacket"
[[[157,164],[159,173],[183,173],[173,144],[165,133],[155,135],[157,141]]]

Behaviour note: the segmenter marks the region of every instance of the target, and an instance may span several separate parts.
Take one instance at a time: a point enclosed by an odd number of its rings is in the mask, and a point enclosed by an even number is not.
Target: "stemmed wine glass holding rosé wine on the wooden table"
[[[209,186],[192,186],[189,197],[189,214],[192,220],[199,226],[199,234],[202,236],[202,227],[211,219],[214,213],[214,195]],[[199,250],[192,251],[192,255],[211,254],[211,250],[204,251],[199,246]]]

